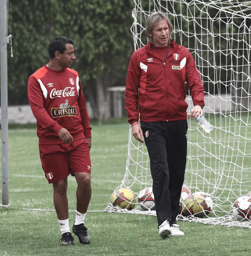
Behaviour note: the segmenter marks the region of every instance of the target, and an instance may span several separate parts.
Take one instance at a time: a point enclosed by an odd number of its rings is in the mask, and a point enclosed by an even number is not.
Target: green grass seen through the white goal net
[[[231,206],[238,196],[251,191],[251,120],[248,114],[206,117],[215,127],[210,135],[201,127],[197,129],[194,120],[188,120],[184,183],[192,193],[210,193],[217,205],[216,215],[222,216],[232,212]],[[146,148],[135,140],[132,142],[125,184],[138,192],[141,183],[151,186],[151,173]]]

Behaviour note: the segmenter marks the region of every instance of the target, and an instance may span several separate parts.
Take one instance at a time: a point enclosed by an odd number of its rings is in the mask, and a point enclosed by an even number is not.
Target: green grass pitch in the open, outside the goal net
[[[129,126],[126,121],[91,125],[92,198],[88,210],[102,211],[125,174]],[[203,143],[204,139],[197,135],[196,140]],[[146,173],[142,174],[142,180],[146,180]],[[250,176],[247,179],[250,180]],[[75,192],[76,182],[69,177],[67,195],[69,210],[73,211],[76,207]],[[250,230],[247,228],[178,221],[186,236],[163,240],[158,236],[155,216],[106,212],[87,213],[85,225],[89,229],[91,245],[80,245],[76,239],[73,247],[61,247],[60,228],[54,211],[21,210],[53,210],[52,193],[52,186],[42,171],[35,129],[9,130],[10,206],[0,208],[0,256],[250,255],[251,244],[247,242]],[[70,225],[74,219],[75,213],[70,212]]]

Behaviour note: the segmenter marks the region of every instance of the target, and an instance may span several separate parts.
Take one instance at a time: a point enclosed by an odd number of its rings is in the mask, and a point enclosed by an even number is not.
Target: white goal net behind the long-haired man
[[[147,44],[144,28],[149,14],[153,11],[167,13],[174,28],[173,39],[188,48],[196,61],[206,92],[204,116],[214,127],[210,134],[205,133],[195,120],[188,118],[184,181],[191,193],[204,192],[211,197],[211,213],[203,218],[182,215],[178,218],[251,228],[248,217],[240,221],[233,215],[236,199],[251,191],[250,1],[134,2],[131,31],[135,50]],[[193,102],[188,90],[186,101],[189,114]],[[126,173],[115,192],[119,188],[133,192],[133,210],[114,206],[111,198],[105,210],[156,215],[154,210],[144,210],[138,203],[140,191],[151,186],[146,146],[137,142],[129,129]]]

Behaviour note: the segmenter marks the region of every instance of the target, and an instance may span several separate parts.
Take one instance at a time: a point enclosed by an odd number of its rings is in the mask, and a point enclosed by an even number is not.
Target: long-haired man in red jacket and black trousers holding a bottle
[[[142,143],[144,138],[147,146],[162,238],[184,235],[176,217],[187,155],[185,81],[194,104],[190,118],[202,116],[204,107],[204,88],[195,61],[189,50],[171,39],[172,32],[164,13],[148,17],[146,36],[150,42],[131,56],[125,92],[133,135]]]

